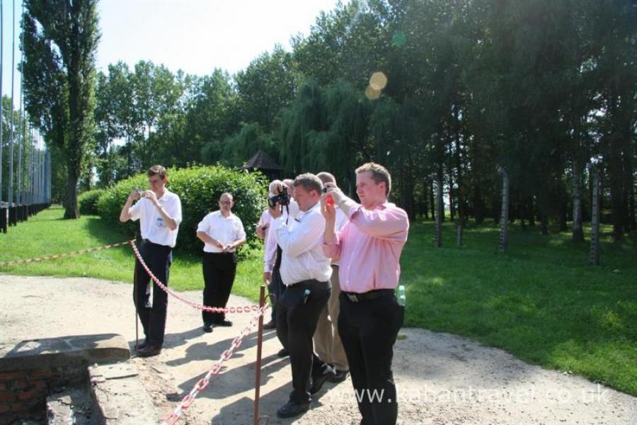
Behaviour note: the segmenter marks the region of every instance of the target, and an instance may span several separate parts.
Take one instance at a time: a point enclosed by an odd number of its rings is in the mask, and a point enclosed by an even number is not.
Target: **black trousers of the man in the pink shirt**
[[[340,294],[338,334],[350,364],[361,424],[396,424],[398,402],[391,361],[404,316],[405,307],[391,293],[360,302]]]

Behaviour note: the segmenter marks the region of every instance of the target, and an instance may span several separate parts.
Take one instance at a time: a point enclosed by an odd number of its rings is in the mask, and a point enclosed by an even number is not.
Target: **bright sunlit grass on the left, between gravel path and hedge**
[[[93,248],[124,242],[131,237],[130,234],[114,229],[100,217],[85,215],[80,220],[62,220],[63,215],[64,210],[61,207],[53,206],[30,217],[28,222],[9,227],[6,234],[0,234],[0,261]],[[173,259],[171,288],[202,289],[201,259],[179,251],[173,253]],[[253,251],[239,262],[234,293],[258,300],[263,275],[262,259],[259,251]],[[133,251],[130,246],[125,245],[67,259],[6,266],[0,268],[0,272],[28,276],[88,276],[132,283],[133,266]]]

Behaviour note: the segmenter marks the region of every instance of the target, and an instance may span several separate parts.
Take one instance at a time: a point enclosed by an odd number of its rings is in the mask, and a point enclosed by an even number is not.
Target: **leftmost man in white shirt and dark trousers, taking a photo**
[[[139,220],[143,239],[139,246],[139,254],[156,278],[168,286],[168,274],[173,262],[172,249],[177,242],[181,222],[181,200],[175,193],[166,189],[168,173],[163,166],[151,166],[147,176],[150,190],[136,189],[130,193],[120,212],[120,221]],[[137,199],[139,202],[132,205]],[[135,307],[146,335],[144,342],[137,347],[137,355],[156,356],[161,353],[163,335],[166,331],[168,294],[154,283],[153,302],[150,304],[150,276],[137,259],[134,282]]]

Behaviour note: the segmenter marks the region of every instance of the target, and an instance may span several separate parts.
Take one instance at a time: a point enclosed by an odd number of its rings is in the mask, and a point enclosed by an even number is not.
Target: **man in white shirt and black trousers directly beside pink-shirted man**
[[[299,214],[286,224],[280,205],[270,208],[272,228],[281,248],[281,280],[285,285],[277,303],[277,336],[287,347],[292,364],[289,401],[277,416],[297,416],[309,409],[309,384],[314,348],[312,336],[321,310],[330,297],[330,259],[323,254],[325,220],[321,215],[323,183],[314,174],[294,179]]]

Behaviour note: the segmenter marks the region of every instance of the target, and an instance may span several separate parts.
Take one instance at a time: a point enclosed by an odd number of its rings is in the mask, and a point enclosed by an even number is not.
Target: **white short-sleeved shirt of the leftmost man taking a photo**
[[[177,243],[177,232],[181,222],[181,200],[179,196],[166,189],[158,199],[159,205],[163,207],[166,214],[173,217],[177,222],[177,228],[171,230],[163,221],[163,217],[151,200],[141,198],[130,208],[130,218],[133,221],[139,220],[139,229],[142,232],[142,239],[159,245],[166,245],[173,248]]]

